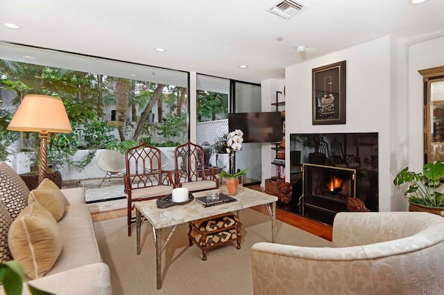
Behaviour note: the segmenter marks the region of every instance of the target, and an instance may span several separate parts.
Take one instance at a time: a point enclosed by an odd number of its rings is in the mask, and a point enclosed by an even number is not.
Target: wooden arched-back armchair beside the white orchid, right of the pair
[[[190,192],[210,190],[219,187],[215,170],[205,167],[205,150],[202,146],[188,141],[174,150],[174,181],[179,188]]]

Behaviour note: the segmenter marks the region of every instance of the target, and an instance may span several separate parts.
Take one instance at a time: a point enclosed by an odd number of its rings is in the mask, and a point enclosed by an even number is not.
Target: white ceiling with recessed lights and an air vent
[[[292,64],[384,35],[444,30],[444,0],[416,6],[407,0],[302,0],[309,8],[292,19],[266,11],[275,3],[3,0],[0,23],[20,28],[0,26],[0,40],[261,82],[283,79]],[[307,46],[302,55],[300,44]]]

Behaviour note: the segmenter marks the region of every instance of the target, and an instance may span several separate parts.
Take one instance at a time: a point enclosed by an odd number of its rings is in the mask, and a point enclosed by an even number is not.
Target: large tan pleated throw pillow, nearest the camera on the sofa
[[[54,217],[39,204],[31,204],[12,222],[8,233],[9,249],[22,262],[26,276],[41,278],[62,251],[62,235]]]

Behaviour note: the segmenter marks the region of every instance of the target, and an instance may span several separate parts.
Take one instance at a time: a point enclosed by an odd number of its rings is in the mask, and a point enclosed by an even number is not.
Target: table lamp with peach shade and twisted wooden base
[[[39,132],[39,184],[48,175],[47,140],[49,132],[72,132],[67,111],[60,98],[28,94],[6,128],[12,131]]]

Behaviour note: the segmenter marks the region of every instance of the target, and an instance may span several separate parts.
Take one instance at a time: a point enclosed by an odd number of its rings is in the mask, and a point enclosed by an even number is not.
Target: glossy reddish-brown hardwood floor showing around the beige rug
[[[250,186],[250,188],[261,190],[260,186]],[[256,211],[268,214],[264,206],[255,206],[253,207]],[[98,222],[101,220],[109,220],[117,217],[126,216],[126,208],[112,210],[112,211],[104,211],[99,213],[92,213],[92,220],[94,222]],[[289,213],[287,211],[281,210],[279,208],[276,209],[276,219],[291,226],[296,226],[298,229],[302,229],[302,231],[307,231],[313,235],[317,235],[325,240],[332,240],[332,227],[327,226],[325,224],[321,224],[319,222],[315,222],[313,220],[309,220],[300,215],[296,215],[293,213]]]

